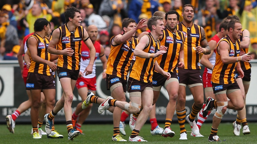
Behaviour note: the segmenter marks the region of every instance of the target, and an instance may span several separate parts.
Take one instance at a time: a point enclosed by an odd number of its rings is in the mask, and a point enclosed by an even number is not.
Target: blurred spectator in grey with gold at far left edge
[[[9,15],[0,13],[0,55],[1,58],[5,53],[10,53],[13,46],[19,45],[18,33],[14,26],[10,25]]]

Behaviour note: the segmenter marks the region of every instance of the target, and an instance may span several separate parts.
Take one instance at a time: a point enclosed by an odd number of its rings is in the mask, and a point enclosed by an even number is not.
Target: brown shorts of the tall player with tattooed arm
[[[200,69],[179,69],[179,83],[192,85],[202,83]]]

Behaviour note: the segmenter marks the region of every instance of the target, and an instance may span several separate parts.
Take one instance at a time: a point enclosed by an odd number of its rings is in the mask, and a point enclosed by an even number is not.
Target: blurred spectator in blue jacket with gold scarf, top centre
[[[143,1],[143,3],[142,3]],[[155,0],[131,0],[129,5],[128,16],[139,22],[138,17],[141,13],[145,13],[151,18],[154,12],[159,10],[159,3]]]

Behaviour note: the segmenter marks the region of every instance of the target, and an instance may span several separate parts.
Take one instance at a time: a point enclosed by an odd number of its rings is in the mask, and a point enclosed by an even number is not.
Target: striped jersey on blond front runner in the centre
[[[149,44],[143,51],[146,53],[156,53],[160,50],[160,40],[154,41],[151,33],[145,34],[149,37]],[[154,62],[156,58],[140,58],[136,56],[135,63],[132,66],[129,77],[139,80],[144,83],[152,82],[152,77],[154,73]]]

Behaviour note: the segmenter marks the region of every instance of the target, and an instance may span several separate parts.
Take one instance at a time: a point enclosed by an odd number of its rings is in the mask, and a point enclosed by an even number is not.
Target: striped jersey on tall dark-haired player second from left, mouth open
[[[64,50],[65,48],[72,48],[74,54],[72,56],[59,55],[57,66],[71,70],[80,69],[81,40],[84,37],[83,27],[80,26],[75,31],[69,31],[65,23],[58,29],[60,30],[60,40],[56,45],[56,49]]]

